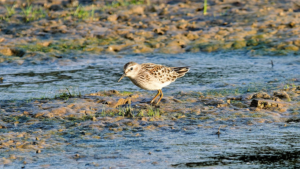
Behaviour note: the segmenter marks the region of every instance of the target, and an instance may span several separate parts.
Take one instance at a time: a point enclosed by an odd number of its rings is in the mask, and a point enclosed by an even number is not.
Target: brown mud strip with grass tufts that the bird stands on
[[[222,134],[272,123],[289,127],[299,122],[299,93],[300,87],[225,97],[179,92],[164,96],[156,106],[148,104],[150,96],[118,91],[68,99],[6,101],[0,109],[0,161],[7,167],[32,166],[51,157],[49,151],[64,151],[65,146],[73,145],[71,140],[125,139],[140,137],[143,131],[211,128],[211,134]],[[39,158],[38,153],[43,155]],[[84,160],[79,156],[71,153],[67,158]]]

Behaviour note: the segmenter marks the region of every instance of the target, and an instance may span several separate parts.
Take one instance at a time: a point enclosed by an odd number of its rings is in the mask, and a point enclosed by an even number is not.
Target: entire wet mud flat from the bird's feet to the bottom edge
[[[1,101],[0,154],[14,167],[299,167],[300,87],[223,97],[105,91]]]

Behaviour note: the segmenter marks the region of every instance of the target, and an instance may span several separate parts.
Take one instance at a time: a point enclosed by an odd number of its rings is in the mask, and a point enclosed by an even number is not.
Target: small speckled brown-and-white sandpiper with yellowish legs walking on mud
[[[163,97],[161,88],[169,85],[177,78],[184,76],[184,74],[190,70],[188,67],[190,66],[168,67],[154,63],[138,64],[135,62],[128,62],[124,65],[124,73],[119,78],[118,82],[127,76],[132,83],[139,88],[149,91],[157,90],[158,93],[151,100],[150,104],[152,104],[156,97],[161,94],[161,97],[159,97],[158,102],[156,103],[158,104]]]

